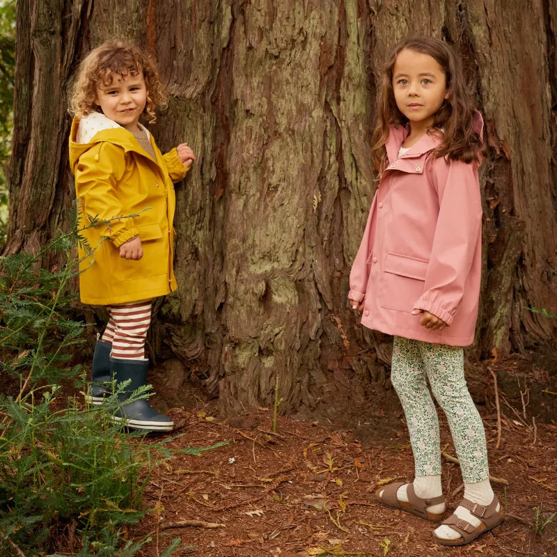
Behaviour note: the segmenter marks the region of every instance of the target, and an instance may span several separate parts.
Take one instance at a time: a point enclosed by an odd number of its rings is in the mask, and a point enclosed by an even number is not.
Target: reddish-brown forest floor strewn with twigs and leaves
[[[473,385],[471,391],[474,396]],[[352,424],[279,417],[272,434],[272,409],[222,420],[212,402],[194,400],[196,407],[169,412],[185,434],[171,446],[228,444],[159,466],[146,489],[146,504],[158,510],[128,532],[153,540],[139,555],[162,555],[177,537],[190,546],[183,556],[557,555],[557,516],[543,527],[557,512],[557,423],[534,424],[531,406],[501,409],[496,449],[497,414],[480,405],[490,473],[508,481],[508,487],[493,485],[507,518],[475,542],[449,548],[432,539],[434,524],[373,500],[379,486],[412,479],[400,406],[385,402],[375,418]],[[456,456],[446,418],[439,417],[441,446]],[[443,484],[448,517],[462,498],[462,478],[460,467],[445,458]]]

